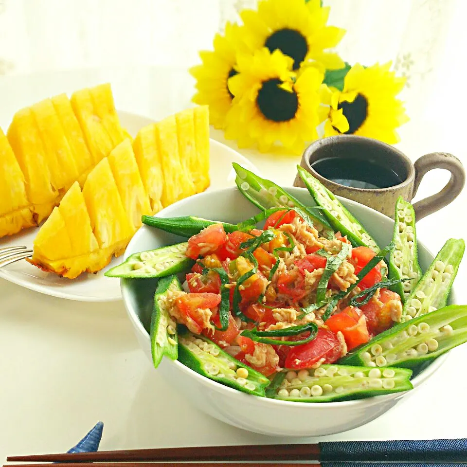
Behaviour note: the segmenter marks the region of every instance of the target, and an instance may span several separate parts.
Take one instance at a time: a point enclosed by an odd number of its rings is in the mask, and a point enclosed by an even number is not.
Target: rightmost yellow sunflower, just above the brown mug
[[[402,101],[396,98],[405,77],[396,77],[390,68],[391,62],[368,68],[357,64],[345,75],[342,91],[322,86],[324,136],[352,134],[388,144],[399,141],[395,130],[409,120]]]

